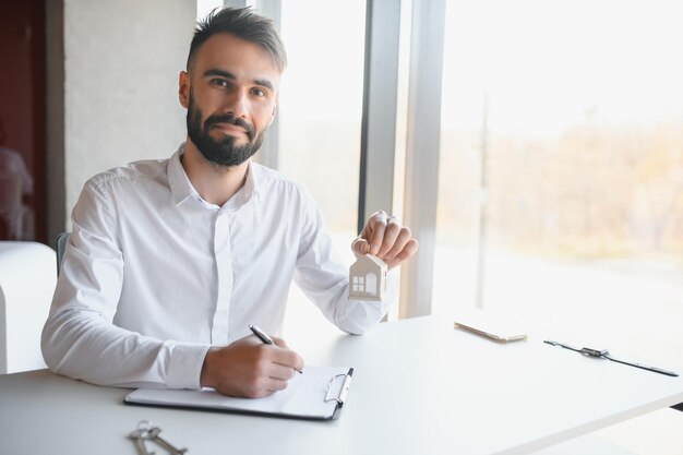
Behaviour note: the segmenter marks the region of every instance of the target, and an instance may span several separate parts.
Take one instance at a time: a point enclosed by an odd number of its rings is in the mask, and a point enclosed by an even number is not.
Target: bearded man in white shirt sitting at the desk
[[[261,397],[303,359],[281,332],[293,280],[340,330],[362,334],[396,300],[351,300],[307,190],[250,159],[275,118],[286,53],[249,9],[212,13],[195,31],[179,100],[187,141],[166,160],[89,179],[76,203],[43,354],[56,373],[131,387],[214,387]],[[390,268],[417,251],[384,212],[354,240]]]

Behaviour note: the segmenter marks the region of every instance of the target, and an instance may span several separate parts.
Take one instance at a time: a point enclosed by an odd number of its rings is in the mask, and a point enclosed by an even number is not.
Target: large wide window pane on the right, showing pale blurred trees
[[[435,312],[680,331],[676,11],[447,3]]]

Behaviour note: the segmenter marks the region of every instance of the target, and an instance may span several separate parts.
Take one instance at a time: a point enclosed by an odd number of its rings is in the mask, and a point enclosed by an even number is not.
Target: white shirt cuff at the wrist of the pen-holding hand
[[[192,343],[177,344],[170,347],[170,361],[166,372],[168,388],[202,388],[200,376],[208,345]]]

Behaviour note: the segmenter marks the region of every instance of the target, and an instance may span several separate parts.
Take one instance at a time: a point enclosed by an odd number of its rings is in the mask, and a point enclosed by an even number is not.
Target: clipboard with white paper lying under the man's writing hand
[[[264,398],[236,398],[213,388],[200,391],[139,388],[125,396],[128,405],[204,409],[304,420],[334,420],[346,403],[352,368],[305,367],[287,388]]]

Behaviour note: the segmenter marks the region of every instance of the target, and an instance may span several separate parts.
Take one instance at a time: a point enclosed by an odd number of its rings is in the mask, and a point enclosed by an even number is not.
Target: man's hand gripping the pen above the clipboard
[[[273,337],[265,345],[253,335],[231,345],[213,347],[204,358],[200,383],[224,395],[260,398],[287,387],[303,360],[287,344]]]

